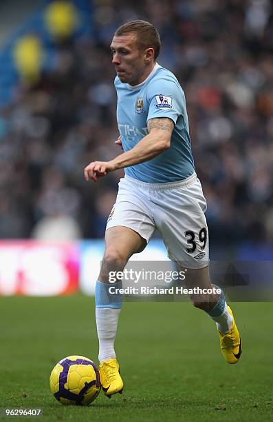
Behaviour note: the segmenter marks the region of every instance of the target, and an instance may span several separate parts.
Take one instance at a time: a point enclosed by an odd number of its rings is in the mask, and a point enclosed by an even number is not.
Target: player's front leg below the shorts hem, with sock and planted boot
[[[122,392],[123,381],[116,360],[114,342],[118,328],[118,316],[122,308],[122,297],[119,289],[122,282],[109,283],[109,273],[112,277],[122,271],[129,258],[140,252],[146,246],[146,241],[134,230],[116,226],[109,228],[105,234],[105,254],[102,259],[100,275],[96,283],[96,324],[99,341],[99,361],[102,389],[105,394]],[[109,292],[115,288],[115,294]]]

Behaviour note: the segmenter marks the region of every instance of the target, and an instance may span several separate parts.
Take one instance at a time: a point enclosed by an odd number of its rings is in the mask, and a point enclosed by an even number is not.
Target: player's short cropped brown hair
[[[136,34],[139,48],[143,50],[153,48],[155,51],[154,59],[157,59],[161,47],[160,34],[151,23],[140,20],[127,22],[120,26],[114,35],[120,37],[120,35],[129,33]]]

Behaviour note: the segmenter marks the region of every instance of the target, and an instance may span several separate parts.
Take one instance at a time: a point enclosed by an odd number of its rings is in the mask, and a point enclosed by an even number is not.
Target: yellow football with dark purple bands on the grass
[[[100,392],[100,372],[85,356],[67,356],[50,374],[50,391],[64,405],[88,405]]]

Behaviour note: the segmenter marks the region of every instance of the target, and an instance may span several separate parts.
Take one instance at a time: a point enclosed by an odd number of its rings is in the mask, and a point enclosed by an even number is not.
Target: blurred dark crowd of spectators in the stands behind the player
[[[0,237],[103,237],[123,173],[87,183],[83,168],[120,153],[109,44],[132,19],[157,27],[186,93],[210,239],[272,241],[270,0],[97,0],[91,36],[53,34],[52,71],[23,74],[0,111]]]

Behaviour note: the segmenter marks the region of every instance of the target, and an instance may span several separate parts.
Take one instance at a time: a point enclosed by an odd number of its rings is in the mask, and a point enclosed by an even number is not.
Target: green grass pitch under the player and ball
[[[223,361],[214,323],[190,303],[124,303],[124,394],[74,407],[54,399],[49,376],[69,354],[98,363],[94,299],[1,298],[0,408],[41,408],[42,422],[273,421],[272,303],[232,310],[243,340],[237,365]]]

